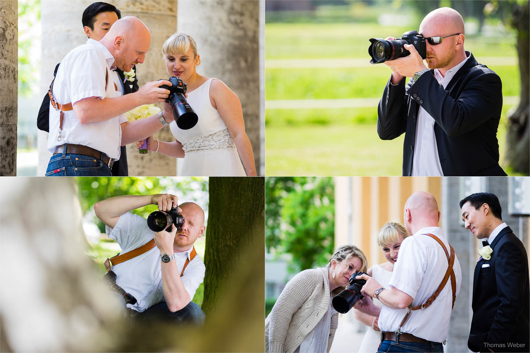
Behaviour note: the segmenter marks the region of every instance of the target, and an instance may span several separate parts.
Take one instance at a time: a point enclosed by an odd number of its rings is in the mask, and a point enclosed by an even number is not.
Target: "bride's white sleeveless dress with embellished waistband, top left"
[[[171,133],[184,149],[179,176],[246,176],[234,140],[211,106],[210,84],[214,79],[188,93],[187,101],[199,117],[197,125],[182,130],[176,122],[170,124]]]

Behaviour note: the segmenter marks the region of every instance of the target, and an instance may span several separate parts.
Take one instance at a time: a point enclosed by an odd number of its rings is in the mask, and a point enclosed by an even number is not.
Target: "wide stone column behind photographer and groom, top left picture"
[[[84,44],[87,37],[83,32],[81,16],[93,1],[47,1],[41,6],[42,59],[41,95],[47,92],[58,62],[76,46]],[[137,66],[140,87],[145,83],[167,77],[161,48],[164,41],[176,30],[176,2],[173,1],[113,1],[121,15],[136,16],[151,31],[151,48],[144,64]],[[162,107],[162,104],[158,103]],[[48,134],[39,132],[39,168],[37,175],[44,175],[50,153],[46,150]],[[155,139],[171,141],[169,128],[155,134]],[[130,176],[173,176],[176,175],[176,160],[161,154],[140,155],[135,144],[127,147],[127,161]]]

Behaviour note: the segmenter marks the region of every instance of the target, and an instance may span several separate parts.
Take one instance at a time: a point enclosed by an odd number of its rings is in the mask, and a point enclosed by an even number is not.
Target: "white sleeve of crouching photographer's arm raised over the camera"
[[[153,231],[147,227],[147,220],[137,214],[122,214],[114,228],[105,225],[107,236],[116,240],[122,252],[127,252],[144,245],[153,238]],[[190,263],[191,265],[191,263]]]

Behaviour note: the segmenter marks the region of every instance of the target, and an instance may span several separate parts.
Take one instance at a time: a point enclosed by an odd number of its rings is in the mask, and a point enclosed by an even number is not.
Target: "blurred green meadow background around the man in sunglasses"
[[[462,14],[464,48],[502,79],[497,138],[500,165],[510,174],[504,156],[507,112],[519,101],[516,36],[499,17],[487,15],[488,2],[286,3],[266,4],[268,176],[401,175],[404,134],[382,141],[376,132],[377,104],[391,71],[369,64],[368,39],[418,30],[423,17],[442,6]]]

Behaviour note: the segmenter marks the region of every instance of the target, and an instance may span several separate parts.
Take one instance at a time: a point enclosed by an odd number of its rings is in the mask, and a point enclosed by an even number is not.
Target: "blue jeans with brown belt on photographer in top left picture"
[[[46,176],[112,176],[110,168],[101,159],[66,153],[51,156]]]

